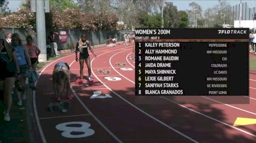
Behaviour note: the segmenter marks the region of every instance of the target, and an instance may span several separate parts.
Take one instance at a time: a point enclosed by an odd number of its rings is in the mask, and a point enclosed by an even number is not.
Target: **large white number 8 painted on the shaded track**
[[[79,127],[67,126],[67,125],[79,125]],[[66,138],[84,138],[92,136],[95,131],[89,129],[91,124],[87,122],[67,122],[56,125],[56,129],[59,131],[64,131],[61,136]],[[79,132],[80,134],[71,134],[72,132]]]

